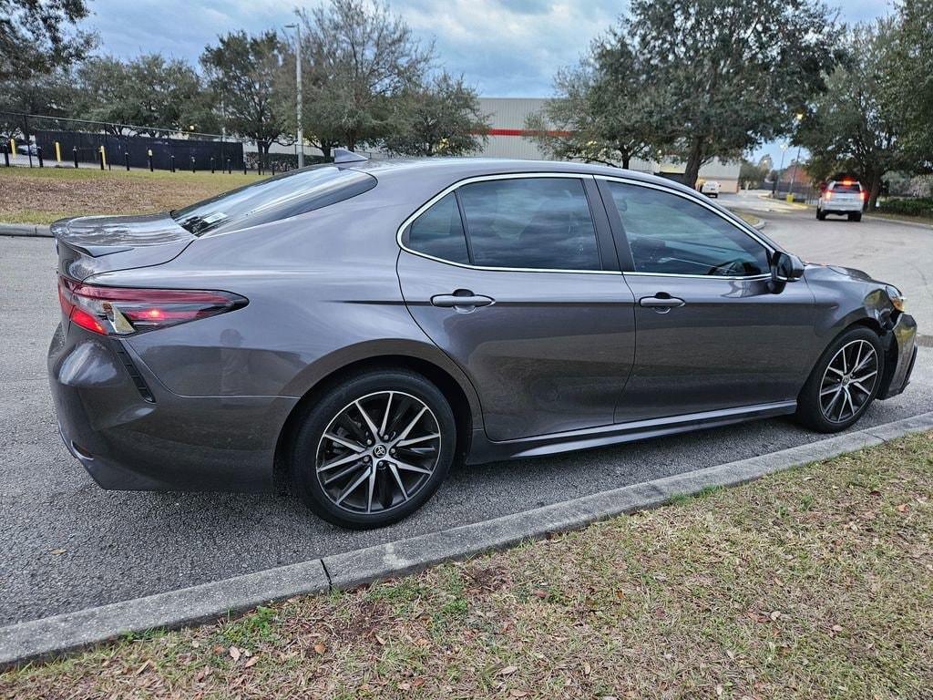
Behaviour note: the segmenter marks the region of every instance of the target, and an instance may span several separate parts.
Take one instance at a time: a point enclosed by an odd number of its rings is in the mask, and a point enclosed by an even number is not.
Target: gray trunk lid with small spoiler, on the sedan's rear
[[[58,249],[59,272],[77,280],[160,265],[195,240],[167,213],[63,218],[50,229]]]

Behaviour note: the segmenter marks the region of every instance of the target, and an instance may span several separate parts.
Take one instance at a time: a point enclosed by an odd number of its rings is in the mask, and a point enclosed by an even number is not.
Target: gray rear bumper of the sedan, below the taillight
[[[178,396],[125,344],[75,326],[52,338],[49,385],[71,454],[102,487],[132,491],[271,491],[297,401]]]

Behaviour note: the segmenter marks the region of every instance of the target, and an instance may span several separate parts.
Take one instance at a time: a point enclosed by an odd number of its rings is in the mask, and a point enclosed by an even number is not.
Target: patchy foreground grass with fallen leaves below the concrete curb
[[[933,433],[0,676],[17,698],[928,698]]]

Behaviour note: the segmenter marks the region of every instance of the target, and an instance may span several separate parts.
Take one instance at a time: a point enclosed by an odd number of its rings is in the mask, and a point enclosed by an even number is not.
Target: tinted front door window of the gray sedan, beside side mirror
[[[768,251],[698,203],[608,183],[639,273],[737,276],[769,272]]]

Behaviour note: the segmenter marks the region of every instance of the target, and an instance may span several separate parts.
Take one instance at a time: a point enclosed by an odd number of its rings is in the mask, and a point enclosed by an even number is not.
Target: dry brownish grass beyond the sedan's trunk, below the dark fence
[[[167,211],[257,179],[242,172],[0,167],[0,222],[48,224],[87,214]]]

